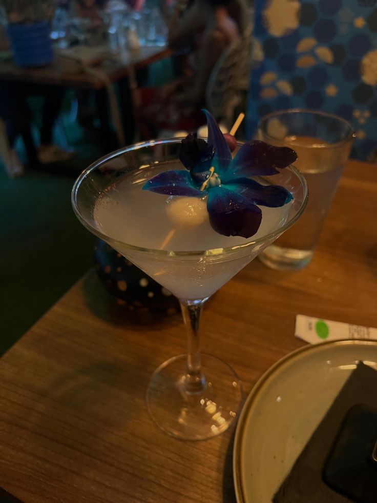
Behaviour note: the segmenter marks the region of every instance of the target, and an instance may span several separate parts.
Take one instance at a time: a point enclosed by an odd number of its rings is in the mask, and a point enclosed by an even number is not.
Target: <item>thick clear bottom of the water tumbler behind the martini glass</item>
[[[259,255],[259,258],[263,264],[272,269],[296,271],[306,267],[312,256],[313,252],[311,250],[270,245]]]

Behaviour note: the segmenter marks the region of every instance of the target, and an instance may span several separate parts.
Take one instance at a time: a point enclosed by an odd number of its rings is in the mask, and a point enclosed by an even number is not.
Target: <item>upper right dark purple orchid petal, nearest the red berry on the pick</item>
[[[289,147],[275,147],[253,140],[242,145],[223,181],[240,176],[275,175],[279,173],[276,168],[286,168],[296,159],[296,152]]]

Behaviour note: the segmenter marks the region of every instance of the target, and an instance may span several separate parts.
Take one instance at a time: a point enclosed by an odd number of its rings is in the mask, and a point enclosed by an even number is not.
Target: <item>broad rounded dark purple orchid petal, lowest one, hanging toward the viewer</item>
[[[224,236],[253,236],[262,220],[258,206],[222,186],[208,191],[207,210],[212,228]]]

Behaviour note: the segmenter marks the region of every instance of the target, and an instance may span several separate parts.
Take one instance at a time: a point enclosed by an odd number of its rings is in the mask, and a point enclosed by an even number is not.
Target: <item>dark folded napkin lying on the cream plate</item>
[[[332,450],[334,440],[338,434],[342,435],[339,432],[343,430],[346,414],[354,405],[361,403],[372,410],[377,409],[376,390],[377,372],[368,365],[359,362],[303,448],[290,473],[282,482],[274,496],[274,503],[350,503],[350,501],[359,501],[351,496],[345,496],[344,493],[325,484],[323,470],[326,462],[330,459],[330,453],[334,452]],[[326,467],[328,470],[327,465]],[[326,471],[326,473],[329,472]],[[377,470],[375,471],[375,479],[377,480]],[[377,503],[377,492],[374,492],[374,498],[360,501]]]

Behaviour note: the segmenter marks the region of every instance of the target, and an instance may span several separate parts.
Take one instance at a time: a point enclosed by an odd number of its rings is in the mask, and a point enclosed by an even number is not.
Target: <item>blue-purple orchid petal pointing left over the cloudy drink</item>
[[[143,187],[158,194],[203,196],[203,192],[195,187],[188,171],[164,171],[154,176]]]

